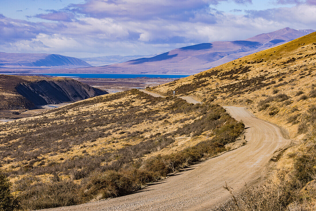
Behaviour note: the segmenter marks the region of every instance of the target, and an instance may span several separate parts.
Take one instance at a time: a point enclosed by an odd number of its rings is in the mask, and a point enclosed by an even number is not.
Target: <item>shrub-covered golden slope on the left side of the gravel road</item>
[[[131,90],[0,124],[1,170],[23,209],[74,205],[131,193],[243,130],[218,105]]]

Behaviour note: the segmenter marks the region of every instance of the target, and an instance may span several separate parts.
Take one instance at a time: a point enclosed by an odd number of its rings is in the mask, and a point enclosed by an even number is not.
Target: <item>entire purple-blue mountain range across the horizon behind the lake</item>
[[[119,74],[195,74],[222,65],[234,59],[275,47],[304,35],[315,32],[313,29],[283,28],[266,34],[258,34],[246,40],[216,41],[174,49],[152,57],[105,56],[83,58],[93,64],[118,64],[92,67],[81,59],[57,54],[0,53],[0,73],[119,73]],[[3,68],[1,70],[2,67]],[[7,69],[29,68],[26,69]],[[36,67],[53,67],[34,70]],[[70,69],[71,68],[71,69]]]

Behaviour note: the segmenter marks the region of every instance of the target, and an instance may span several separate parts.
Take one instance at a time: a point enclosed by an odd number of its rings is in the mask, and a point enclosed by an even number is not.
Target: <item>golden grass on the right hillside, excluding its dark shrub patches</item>
[[[200,88],[188,92],[185,92],[185,90],[179,91],[177,94],[179,96],[195,96],[199,100],[204,98],[209,100],[210,98],[216,96],[217,98],[214,99],[214,103],[216,104],[220,104],[222,106],[229,105],[247,107],[259,118],[286,127],[290,132],[289,134],[291,135],[291,138],[295,138],[297,125],[287,123],[287,118],[289,115],[293,114],[291,109],[298,108],[299,111],[297,111],[297,113],[301,114],[306,111],[309,105],[316,102],[316,98],[299,100],[301,96],[295,96],[295,94],[300,90],[304,92],[303,95],[308,96],[308,93],[313,89],[312,84],[315,83],[316,79],[316,56],[309,56],[313,53],[316,53],[316,33],[306,35],[277,47],[253,53],[240,59],[235,59],[234,61],[219,65],[210,70],[203,71],[175,82],[152,87],[152,90],[163,95],[170,95],[171,90],[177,90],[177,88],[183,86],[184,84],[195,84],[199,80],[207,80],[205,85]],[[295,58],[295,61],[285,63],[291,58]],[[260,63],[253,63],[254,61],[260,61],[262,59],[263,61]],[[247,62],[251,63],[248,64]],[[231,74],[228,78],[219,77],[218,75],[211,77],[207,76],[207,74],[211,72],[217,71],[219,73],[223,73],[239,66],[250,66],[251,71],[241,74]],[[231,95],[231,92],[229,91],[224,91],[222,93],[216,92],[221,89],[221,87],[227,86],[228,84],[234,85],[246,78],[252,79],[262,75],[266,75],[266,78],[268,78],[268,76],[271,77],[270,79],[264,80],[264,83],[274,80],[276,81],[276,84],[271,84],[264,86],[263,88],[258,88],[258,90],[248,92],[245,90],[249,87],[245,87],[244,89],[239,90],[244,91],[244,93],[239,95]],[[304,77],[300,78],[301,75]],[[238,76],[238,78],[231,79],[234,78],[234,76]],[[283,82],[287,83],[282,84]],[[277,84],[282,85],[275,87]],[[267,96],[275,96],[276,94],[272,94],[273,89],[279,90],[278,93],[289,95],[292,103],[290,105],[283,105],[283,102],[271,102],[270,108],[276,107],[279,109],[279,112],[276,115],[269,115],[269,109],[262,111],[258,110],[258,102],[266,99]]]

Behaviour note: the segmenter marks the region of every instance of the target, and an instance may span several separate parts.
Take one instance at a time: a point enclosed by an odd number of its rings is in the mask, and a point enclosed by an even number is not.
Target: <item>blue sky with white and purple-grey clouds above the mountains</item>
[[[0,0],[0,52],[166,52],[281,28],[316,29],[316,0]]]

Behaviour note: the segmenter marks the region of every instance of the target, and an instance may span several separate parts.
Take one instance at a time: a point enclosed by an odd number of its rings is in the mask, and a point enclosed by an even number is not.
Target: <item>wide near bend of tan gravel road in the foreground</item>
[[[290,140],[280,129],[256,118],[245,108],[226,107],[246,126],[245,146],[195,164],[186,171],[131,194],[109,200],[48,210],[208,210],[228,199],[225,181],[235,191],[264,175],[263,169],[276,151]],[[270,161],[271,162],[271,161]]]

